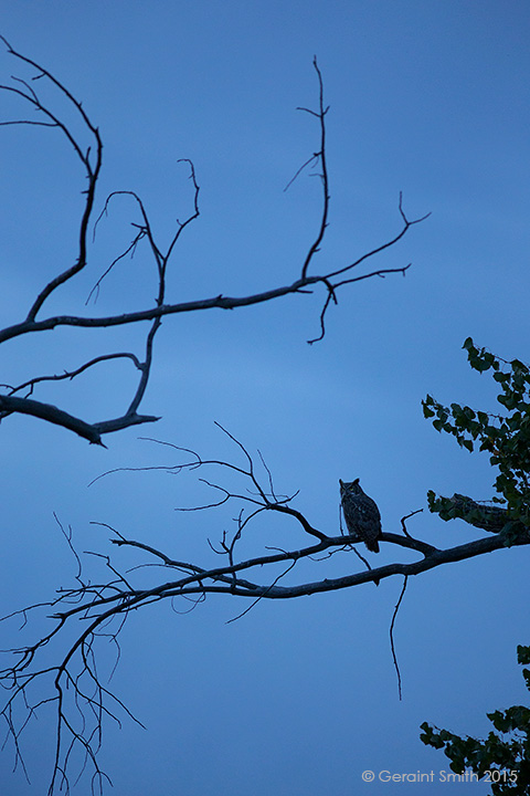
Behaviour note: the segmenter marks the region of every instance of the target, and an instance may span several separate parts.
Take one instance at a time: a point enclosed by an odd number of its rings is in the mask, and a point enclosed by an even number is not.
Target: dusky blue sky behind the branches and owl
[[[163,419],[108,437],[108,450],[33,419],[3,422],[6,612],[74,577],[52,512],[72,524],[80,549],[107,551],[106,534],[89,524],[99,521],[173,555],[211,561],[205,537],[218,538],[231,515],[176,513],[203,495],[191,479],[120,473],[87,488],[112,468],[171,463],[140,436],[231,457],[213,425],[221,422],[262,450],[278,489],[299,489],[297,507],[329,533],[339,478],[361,476],[391,532],[404,514],[426,510],[428,489],[491,495],[487,459],[438,436],[420,401],[431,392],[495,409],[488,376],[471,373],[460,350],[469,335],[505,358],[530,358],[527,3],[4,0],[1,32],[64,81],[100,127],[99,208],[110,190],[136,190],[168,240],[192,199],[177,160],[193,159],[201,217],[176,252],[174,301],[254,293],[298,274],[319,220],[318,181],[306,172],[283,189],[318,146],[314,119],[296,111],[316,107],[315,54],[331,106],[330,226],[318,269],[396,234],[400,191],[410,217],[432,212],[377,260],[381,268],[412,262],[406,277],[343,290],[318,345],[306,343],[318,333],[318,291],[167,318],[144,406]],[[2,53],[0,69],[6,82],[13,59]],[[2,117],[17,116],[3,101]],[[83,178],[53,133],[4,127],[0,136],[0,312],[8,324],[57,264],[71,263]],[[89,271],[50,312],[84,312],[94,281],[129,240],[129,208],[116,206]],[[148,269],[140,253],[125,261],[92,312],[150,303]],[[141,336],[120,329],[85,339],[55,331],[13,341],[1,354],[2,381],[75,367],[98,346]],[[97,420],[123,410],[130,378],[125,365],[103,366],[39,395]],[[410,531],[439,546],[473,537],[425,511]],[[261,533],[277,542],[284,531]],[[385,547],[381,561],[394,561]],[[225,597],[188,616],[162,606],[131,618],[113,682],[148,732],[127,722],[121,732],[107,729],[103,762],[114,793],[346,796],[370,792],[360,778],[365,768],[447,769],[443,755],[420,743],[422,721],[484,734],[486,711],[524,699],[516,645],[528,642],[520,608],[528,555],[506,551],[410,583],[396,622],[401,703],[388,640],[398,578],[379,589],[262,601],[231,625],[246,604]],[[332,559],[326,573],[352,572],[356,563]],[[11,632],[2,647],[13,645]],[[47,782],[50,722],[43,714],[28,729],[33,787],[11,774],[9,754],[0,761],[6,796],[40,793]],[[392,787],[406,794],[414,785]],[[434,783],[430,793],[457,788]]]

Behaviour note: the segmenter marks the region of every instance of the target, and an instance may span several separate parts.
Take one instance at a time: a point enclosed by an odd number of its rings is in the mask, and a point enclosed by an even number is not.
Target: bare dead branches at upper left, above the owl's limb
[[[98,223],[104,217],[107,217],[109,207],[114,201],[119,199],[129,198],[132,199],[137,211],[137,220],[131,221],[134,229],[134,235],[130,243],[126,249],[117,256],[112,259],[109,265],[104,270],[103,274],[95,280],[93,291],[88,298],[93,295],[98,294],[102,289],[102,284],[108,273],[126,256],[134,255],[138,247],[147,244],[150,256],[155,263],[155,270],[158,281],[157,297],[153,306],[148,306],[144,310],[135,312],[126,312],[117,315],[78,315],[65,312],[64,314],[45,316],[44,307],[46,301],[52,294],[55,294],[59,287],[73,280],[78,273],[84,271],[88,265],[88,250],[89,239],[88,230],[92,224],[92,218],[95,207],[96,189],[102,169],[102,156],[103,156],[103,142],[99,135],[99,130],[96,125],[91,121],[88,114],[83,108],[82,103],[65,87],[65,85],[59,81],[51,72],[26,57],[22,53],[15,51],[9,42],[0,36],[1,41],[7,46],[8,52],[24,66],[29,66],[32,70],[31,81],[42,80],[46,82],[54,91],[66,100],[70,107],[75,112],[77,118],[81,119],[83,133],[77,135],[74,133],[71,125],[64,122],[59,115],[56,115],[53,108],[44,102],[38,91],[31,85],[31,82],[20,77],[13,77],[12,84],[0,85],[0,91],[4,91],[19,98],[23,104],[32,108],[40,118],[35,121],[19,118],[12,121],[0,122],[0,126],[11,125],[34,125],[39,127],[50,127],[57,129],[66,139],[67,144],[74,150],[77,160],[81,163],[84,178],[86,179],[86,188],[83,190],[84,207],[81,213],[80,227],[78,227],[78,244],[77,252],[74,263],[63,271],[57,273],[47,284],[45,284],[39,292],[36,298],[31,304],[31,307],[23,321],[12,324],[10,326],[0,329],[0,344],[7,343],[8,341],[17,337],[32,335],[34,333],[50,332],[57,327],[73,327],[73,328],[110,328],[114,326],[124,326],[130,324],[138,324],[142,322],[149,323],[149,328],[145,337],[145,352],[140,358],[137,354],[131,352],[119,352],[115,354],[106,354],[96,356],[88,362],[71,367],[67,370],[59,375],[38,375],[26,378],[22,384],[17,386],[3,385],[3,392],[0,392],[0,421],[8,418],[13,413],[25,413],[38,417],[47,422],[62,426],[63,428],[74,431],[80,437],[88,440],[94,444],[103,444],[102,437],[120,429],[128,428],[138,423],[155,422],[159,418],[152,415],[139,413],[140,404],[145,397],[150,371],[153,362],[153,349],[155,339],[159,332],[161,320],[166,315],[176,315],[188,312],[200,312],[204,310],[235,310],[242,306],[251,306],[254,304],[262,304],[264,302],[275,301],[282,296],[289,295],[303,295],[311,293],[314,287],[322,285],[325,290],[325,301],[320,313],[320,334],[318,337],[308,341],[315,343],[322,339],[325,336],[325,317],[328,307],[332,302],[337,303],[337,292],[339,289],[353,284],[365,279],[372,279],[373,276],[384,276],[391,273],[405,274],[410,265],[403,265],[399,268],[378,268],[369,273],[362,273],[356,276],[349,275],[348,279],[341,279],[344,274],[351,274],[361,263],[367,260],[374,258],[377,254],[384,250],[393,247],[400,241],[403,235],[413,226],[423,221],[426,216],[420,219],[409,220],[403,211],[402,197],[400,195],[399,211],[402,219],[402,228],[400,232],[391,238],[388,242],[382,245],[375,247],[370,252],[362,254],[354,259],[352,262],[346,265],[340,265],[326,273],[311,273],[316,254],[319,252],[320,247],[324,242],[326,229],[328,227],[329,217],[329,175],[327,167],[327,150],[326,150],[326,115],[329,111],[329,106],[325,105],[324,101],[324,82],[322,75],[317,64],[316,59],[314,60],[314,67],[318,80],[318,109],[312,111],[310,108],[300,108],[301,111],[314,116],[319,124],[319,148],[318,151],[314,153],[307,163],[298,170],[293,179],[299,175],[299,172],[309,163],[317,166],[318,174],[320,176],[322,195],[321,195],[321,212],[320,219],[317,226],[317,231],[314,241],[310,243],[308,251],[299,266],[298,275],[293,280],[288,280],[286,284],[280,286],[274,286],[269,290],[254,293],[245,296],[226,296],[224,294],[215,295],[205,298],[197,298],[194,301],[174,303],[166,295],[167,273],[170,266],[170,260],[173,251],[179,242],[179,239],[183,231],[189,224],[195,221],[200,216],[199,208],[199,193],[200,188],[195,177],[195,169],[191,160],[181,158],[178,163],[186,164],[189,168],[189,178],[192,185],[192,209],[184,221],[177,220],[176,230],[169,245],[163,249],[153,233],[153,228],[150,222],[147,209],[141,198],[134,191],[115,190],[105,200],[103,209],[94,223],[94,234],[98,227]],[[84,140],[85,137],[88,144]],[[292,180],[293,181],[293,180]],[[290,184],[289,184],[290,185]],[[30,398],[33,390],[44,381],[60,381],[62,379],[74,379],[81,374],[86,373],[88,369],[97,366],[102,362],[108,362],[110,359],[129,358],[137,370],[139,371],[139,378],[134,390],[132,396],[129,398],[128,408],[124,410],[124,413],[115,419],[104,419],[98,422],[88,422],[84,419],[75,417],[68,412],[65,412],[61,408],[51,404],[44,404],[42,401]],[[24,396],[17,395],[24,390],[28,394]]]

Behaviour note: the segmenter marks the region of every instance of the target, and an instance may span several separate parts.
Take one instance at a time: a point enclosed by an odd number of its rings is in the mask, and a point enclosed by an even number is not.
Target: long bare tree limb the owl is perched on
[[[155,468],[126,469],[129,471],[163,470],[170,474],[193,472],[197,469],[201,471],[213,469],[246,482],[246,489],[234,490],[215,483],[211,478],[200,478],[199,480],[210,489],[216,492],[221,491],[223,498],[205,505],[180,510],[188,512],[186,516],[191,517],[193,514],[189,512],[216,511],[227,503],[239,505],[235,530],[230,533],[223,531],[216,545],[209,542],[210,549],[222,557],[220,564],[211,565],[208,562],[198,564],[183,561],[150,543],[128,538],[106,523],[95,523],[110,531],[110,543],[114,547],[136,549],[141,558],[137,566],[124,575],[110,555],[93,552],[88,555],[96,556],[97,561],[104,563],[107,576],[103,579],[94,576],[87,578],[83,574],[82,557],[74,548],[72,533],[66,533],[61,526],[68,548],[75,556],[76,583],[70,588],[60,589],[57,596],[49,603],[35,604],[18,611],[25,625],[29,618],[35,615],[36,619],[36,616],[44,610],[52,627],[47,633],[38,637],[34,643],[8,651],[9,654],[14,656],[14,662],[11,659],[11,662],[0,671],[0,682],[10,691],[3,709],[3,716],[14,745],[15,757],[22,763],[19,741],[23,724],[19,726],[14,719],[15,715],[19,715],[20,706],[25,705],[29,715],[33,715],[40,705],[55,704],[57,746],[50,794],[57,792],[61,786],[67,786],[71,776],[68,773],[70,755],[74,747],[83,751],[85,765],[91,765],[96,781],[103,783],[105,774],[100,771],[97,762],[102,716],[107,715],[119,722],[118,713],[120,711],[124,710],[126,715],[130,715],[130,713],[103,684],[100,664],[96,668],[98,641],[104,639],[105,645],[109,639],[113,641],[116,649],[116,666],[119,660],[118,636],[131,612],[168,599],[173,601],[180,598],[191,601],[191,609],[193,609],[210,595],[246,598],[250,604],[230,620],[234,621],[264,599],[297,599],[363,584],[380,583],[394,576],[404,577],[405,583],[410,583],[412,576],[421,575],[444,564],[481,556],[506,548],[508,544],[510,546],[530,544],[530,534],[527,528],[515,541],[508,540],[504,531],[491,533],[490,528],[487,528],[489,533],[485,538],[465,542],[455,547],[439,548],[414,538],[406,530],[405,521],[417,514],[416,511],[401,520],[402,533],[384,532],[380,538],[382,552],[401,549],[415,556],[415,559],[400,559],[372,567],[362,556],[352,558],[351,555],[348,555],[356,549],[354,545],[359,542],[356,536],[346,536],[342,533],[331,535],[315,527],[315,524],[299,509],[290,505],[298,493],[285,495],[276,491],[272,472],[263,455],[258,453],[258,458],[255,460],[240,440],[219,423],[218,426],[236,447],[239,457],[242,459],[241,462],[203,459],[190,449],[162,443],[178,453],[179,461],[177,463]],[[110,472],[116,471],[109,471],[104,475],[108,476]],[[464,501],[464,504],[468,510],[469,503]],[[287,526],[284,531],[285,537],[292,538],[292,534],[294,534],[295,538],[298,538],[301,533],[305,542],[301,545],[289,545],[282,548],[271,547],[264,542],[262,543],[263,548],[255,555],[250,558],[241,557],[239,555],[240,544],[250,524],[258,517],[263,520],[266,516],[269,522],[265,527],[268,528],[274,516],[278,514],[293,521],[292,527]],[[495,522],[498,525],[497,512]],[[498,526],[500,527],[500,525]],[[264,538],[263,533],[261,538]],[[325,569],[325,562],[332,555],[340,555],[344,564],[346,572],[339,577],[328,577]],[[306,566],[310,563],[318,566],[319,578],[294,579],[295,574],[299,572],[301,562],[305,562]],[[365,566],[367,568],[359,569],[359,562],[361,567]],[[139,569],[144,573],[141,584],[136,580],[136,573]],[[152,573],[150,585],[146,585],[146,569]],[[306,573],[306,570],[304,572]],[[280,584],[279,580],[287,576],[289,576],[290,583]],[[398,663],[392,633],[396,610],[391,626],[391,645],[395,666]],[[60,650],[62,649],[62,652],[59,653],[59,662],[41,668],[39,662],[41,658],[44,658],[44,650],[52,641]],[[400,674],[399,678],[401,689]],[[33,689],[39,683],[41,683],[39,698],[33,699]],[[41,695],[42,689],[46,689],[44,699]],[[74,729],[78,726],[78,720],[82,720],[82,731]]]

